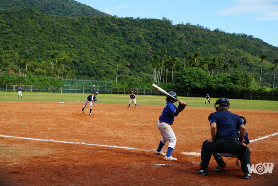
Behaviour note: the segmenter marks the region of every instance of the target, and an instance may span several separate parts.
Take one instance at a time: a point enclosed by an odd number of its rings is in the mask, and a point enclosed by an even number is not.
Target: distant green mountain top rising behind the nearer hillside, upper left
[[[22,8],[36,8],[38,11],[52,16],[107,15],[74,0],[0,0],[0,10]]]

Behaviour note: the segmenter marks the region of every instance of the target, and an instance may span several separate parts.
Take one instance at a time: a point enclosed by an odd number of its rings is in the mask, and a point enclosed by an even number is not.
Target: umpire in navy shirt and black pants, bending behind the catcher
[[[216,105],[219,105],[216,107]],[[241,149],[246,148],[243,142],[245,136],[245,126],[238,115],[228,111],[230,108],[229,100],[226,97],[222,97],[214,103],[216,112],[209,115],[209,122],[211,124],[211,139],[203,142],[200,163],[201,169],[197,170],[197,173],[202,175],[208,175],[208,166],[213,152],[215,153],[228,153],[239,155]],[[240,129],[239,141],[237,139],[236,129]],[[250,162],[246,158],[241,158],[241,165],[243,167],[243,178],[251,178],[251,174],[248,174],[248,168],[246,162]]]

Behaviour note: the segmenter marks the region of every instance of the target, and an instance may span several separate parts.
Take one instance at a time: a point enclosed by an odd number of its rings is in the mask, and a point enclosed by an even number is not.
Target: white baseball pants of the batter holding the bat
[[[165,144],[167,141],[169,141],[168,147],[174,149],[177,143],[177,139],[171,125],[165,122],[160,123],[158,120],[157,128],[160,131],[160,134],[162,136],[161,142]]]

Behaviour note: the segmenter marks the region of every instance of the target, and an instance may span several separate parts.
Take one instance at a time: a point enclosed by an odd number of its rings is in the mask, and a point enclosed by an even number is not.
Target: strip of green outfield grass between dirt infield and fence
[[[23,92],[23,98],[19,97],[17,92],[0,92],[1,101],[16,101],[16,102],[69,102],[83,104],[85,98],[89,94],[82,93],[30,93]],[[99,94],[97,103],[110,103],[110,104],[127,104],[129,103],[129,94]],[[139,105],[164,105],[166,96],[155,95],[136,95],[136,102]],[[213,103],[218,98],[211,98],[211,104],[208,102],[204,104],[203,97],[178,97],[183,100],[188,106],[193,107],[213,107]],[[264,100],[238,100],[229,99],[231,108],[237,109],[261,109],[261,110],[278,110],[277,101],[264,101]]]

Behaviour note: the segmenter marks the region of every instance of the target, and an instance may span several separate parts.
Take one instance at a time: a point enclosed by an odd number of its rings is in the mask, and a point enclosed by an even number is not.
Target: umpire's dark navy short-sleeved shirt
[[[209,115],[209,122],[216,123],[215,140],[222,137],[237,138],[236,129],[238,129],[240,125],[243,125],[239,116],[231,113],[227,109],[211,113]]]

